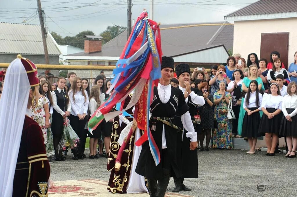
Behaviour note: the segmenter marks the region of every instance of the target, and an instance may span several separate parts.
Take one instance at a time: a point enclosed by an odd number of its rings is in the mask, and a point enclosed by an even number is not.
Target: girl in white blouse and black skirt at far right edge
[[[296,157],[297,149],[297,85],[293,81],[287,87],[287,95],[282,102],[282,117],[279,134],[286,136],[288,152],[286,157]],[[293,142],[293,148],[292,148]]]

